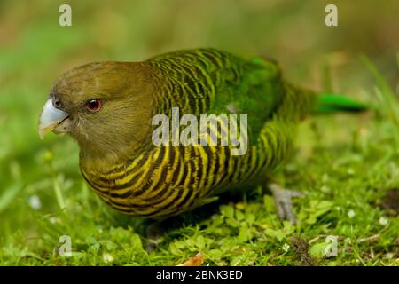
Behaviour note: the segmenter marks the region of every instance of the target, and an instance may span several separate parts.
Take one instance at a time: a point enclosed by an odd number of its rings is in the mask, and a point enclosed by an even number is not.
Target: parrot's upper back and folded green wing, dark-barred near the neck
[[[247,114],[254,139],[286,93],[278,65],[269,60],[197,49],[149,62],[163,73],[160,93],[170,102],[168,107],[179,106],[181,114]]]

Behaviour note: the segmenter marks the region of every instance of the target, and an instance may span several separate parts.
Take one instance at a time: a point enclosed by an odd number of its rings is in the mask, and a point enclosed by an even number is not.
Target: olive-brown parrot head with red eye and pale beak
[[[66,133],[91,158],[132,154],[151,137],[153,85],[144,63],[100,62],[60,75],[39,120],[39,136]]]

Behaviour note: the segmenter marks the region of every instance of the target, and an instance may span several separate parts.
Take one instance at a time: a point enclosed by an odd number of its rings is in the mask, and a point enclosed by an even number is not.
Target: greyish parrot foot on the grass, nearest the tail
[[[282,188],[276,184],[269,185],[269,188],[271,193],[273,194],[276,209],[278,211],[278,217],[281,220],[288,220],[291,222],[292,225],[295,225],[296,219],[293,214],[292,199],[294,197],[301,196],[302,193]]]

